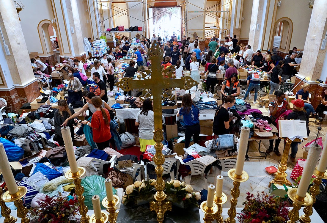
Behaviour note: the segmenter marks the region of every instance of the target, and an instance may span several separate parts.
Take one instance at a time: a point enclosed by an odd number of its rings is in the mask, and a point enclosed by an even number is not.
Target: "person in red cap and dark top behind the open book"
[[[309,130],[309,116],[307,115],[307,113],[304,112],[304,102],[301,99],[296,99],[296,100],[292,100],[292,104],[293,104],[293,112],[289,113],[287,116],[287,119],[294,119],[294,120],[302,120],[305,121],[306,123],[306,129],[307,129],[307,134],[309,137],[310,134],[310,130]],[[292,142],[291,143],[291,154],[289,154],[289,158],[291,159],[292,162],[295,162],[295,157],[296,157],[296,153],[298,152],[298,145],[301,142]]]

